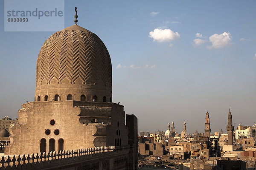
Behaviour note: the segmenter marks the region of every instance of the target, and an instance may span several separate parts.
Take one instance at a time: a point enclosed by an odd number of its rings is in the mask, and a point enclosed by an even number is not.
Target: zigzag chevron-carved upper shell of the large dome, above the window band
[[[99,37],[77,25],[52,34],[37,60],[36,86],[63,83],[111,85],[111,59]],[[80,79],[80,81],[78,81]]]

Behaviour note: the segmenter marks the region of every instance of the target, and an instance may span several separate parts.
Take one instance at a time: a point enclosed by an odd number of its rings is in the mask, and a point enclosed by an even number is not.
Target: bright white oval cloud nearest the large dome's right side
[[[149,32],[149,36],[153,38],[153,41],[164,42],[171,41],[180,38],[178,32],[174,32],[171,29],[154,29],[154,31]]]

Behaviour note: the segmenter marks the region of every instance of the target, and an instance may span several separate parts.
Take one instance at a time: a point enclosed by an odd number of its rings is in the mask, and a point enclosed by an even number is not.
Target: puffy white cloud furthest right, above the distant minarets
[[[213,34],[209,37],[209,41],[212,42],[212,46],[208,48],[221,48],[227,45],[231,45],[231,34],[229,32],[224,32],[222,34]]]

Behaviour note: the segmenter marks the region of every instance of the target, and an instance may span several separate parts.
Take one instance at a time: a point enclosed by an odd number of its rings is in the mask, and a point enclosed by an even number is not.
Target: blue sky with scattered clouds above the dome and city
[[[4,32],[0,1],[0,116],[32,101],[35,65],[54,32]],[[65,27],[96,33],[111,55],[113,102],[138,117],[139,131],[226,131],[256,124],[256,1],[65,0]],[[49,23],[50,25],[51,23]],[[47,27],[47,25],[46,25]],[[198,34],[197,34],[198,33]]]

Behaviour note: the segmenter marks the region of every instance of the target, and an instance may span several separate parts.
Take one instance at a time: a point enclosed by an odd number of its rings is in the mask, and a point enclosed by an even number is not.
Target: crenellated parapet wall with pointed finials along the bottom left
[[[110,146],[3,156],[0,170],[128,170],[128,152],[129,146]]]

